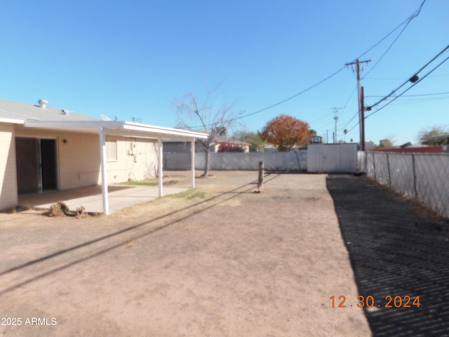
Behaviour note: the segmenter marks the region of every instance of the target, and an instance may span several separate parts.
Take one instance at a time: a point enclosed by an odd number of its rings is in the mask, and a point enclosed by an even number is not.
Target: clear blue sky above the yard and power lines
[[[247,131],[290,114],[332,140],[333,107],[338,107],[337,138],[345,138],[346,128],[346,140],[358,141],[351,67],[297,94],[396,28],[361,56],[371,60],[362,72],[366,105],[403,84],[449,44],[449,1],[427,0],[407,27],[401,25],[422,2],[1,1],[0,98],[32,104],[43,98],[51,107],[92,117],[134,117],[173,127],[175,98],[189,92],[205,98],[208,89],[222,83],[222,100],[236,101],[236,110],[252,114],[241,119]],[[371,111],[367,141],[415,143],[421,128],[448,125],[449,60],[405,95]]]

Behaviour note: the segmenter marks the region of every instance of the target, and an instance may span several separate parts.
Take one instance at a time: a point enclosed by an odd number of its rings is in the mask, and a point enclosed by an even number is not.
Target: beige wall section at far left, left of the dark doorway
[[[18,204],[14,124],[0,123],[0,210]]]

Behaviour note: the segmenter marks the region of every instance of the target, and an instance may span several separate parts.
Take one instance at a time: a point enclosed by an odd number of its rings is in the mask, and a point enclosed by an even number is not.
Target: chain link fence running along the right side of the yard
[[[448,154],[368,151],[359,156],[358,162],[368,177],[449,218]]]

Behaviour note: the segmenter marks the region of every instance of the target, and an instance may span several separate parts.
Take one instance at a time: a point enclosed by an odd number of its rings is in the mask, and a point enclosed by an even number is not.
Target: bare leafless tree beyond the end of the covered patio
[[[182,99],[173,100],[177,111],[177,128],[184,128],[192,131],[208,133],[208,138],[198,139],[206,154],[203,176],[209,173],[210,146],[213,145],[220,136],[226,136],[237,124],[243,111],[236,112],[233,103],[220,103],[215,86],[212,91],[208,91],[206,99],[202,102],[193,93],[187,93]]]

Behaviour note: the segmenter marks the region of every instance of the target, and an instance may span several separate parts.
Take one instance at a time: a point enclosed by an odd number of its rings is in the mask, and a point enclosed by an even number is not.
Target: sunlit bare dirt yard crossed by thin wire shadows
[[[358,293],[326,175],[213,174],[109,216],[0,214],[2,336],[370,336],[332,308]]]

